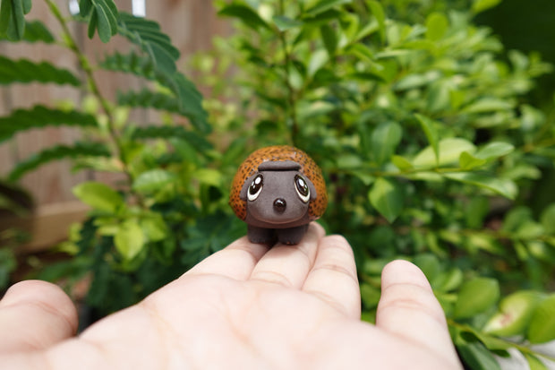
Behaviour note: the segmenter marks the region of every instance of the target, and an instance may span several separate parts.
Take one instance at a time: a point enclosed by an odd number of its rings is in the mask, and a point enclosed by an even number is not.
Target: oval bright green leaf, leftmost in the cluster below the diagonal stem
[[[73,187],[73,194],[94,210],[115,213],[124,205],[124,198],[110,186],[87,181]]]

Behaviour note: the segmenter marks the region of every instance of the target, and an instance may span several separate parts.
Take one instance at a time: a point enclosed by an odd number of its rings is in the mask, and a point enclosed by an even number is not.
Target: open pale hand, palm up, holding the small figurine
[[[23,281],[0,301],[4,369],[460,369],[441,307],[412,263],[382,272],[377,323],[360,321],[346,239],[312,223],[299,245],[243,237],[138,305],[75,336],[72,301]]]

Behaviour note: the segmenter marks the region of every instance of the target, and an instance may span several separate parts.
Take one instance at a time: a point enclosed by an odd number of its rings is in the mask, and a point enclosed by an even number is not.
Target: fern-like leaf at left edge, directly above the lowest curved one
[[[76,110],[61,110],[40,105],[30,109],[17,109],[10,116],[0,117],[0,142],[20,131],[52,125],[90,127],[98,124],[94,116]]]

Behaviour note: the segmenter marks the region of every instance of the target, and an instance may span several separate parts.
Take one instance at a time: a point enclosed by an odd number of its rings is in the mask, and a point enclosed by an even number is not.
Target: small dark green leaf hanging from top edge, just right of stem
[[[117,7],[113,0],[81,0],[79,12],[89,19],[89,39],[98,31],[98,38],[108,42],[117,33]]]

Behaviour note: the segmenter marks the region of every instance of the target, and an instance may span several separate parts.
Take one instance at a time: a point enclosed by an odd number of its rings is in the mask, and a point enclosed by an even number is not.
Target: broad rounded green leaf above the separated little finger
[[[397,219],[403,211],[405,192],[394,179],[378,178],[372,185],[368,197],[376,211],[379,211],[389,222]]]

